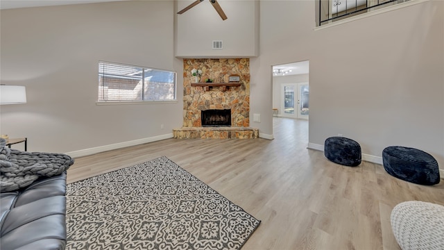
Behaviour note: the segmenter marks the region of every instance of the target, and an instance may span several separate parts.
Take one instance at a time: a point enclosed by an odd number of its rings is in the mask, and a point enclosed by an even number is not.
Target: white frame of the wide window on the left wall
[[[101,93],[101,74],[103,74],[103,72],[101,73],[101,65],[112,65],[112,66],[119,66],[121,65],[122,67],[134,67],[134,68],[139,68],[142,69],[143,72],[146,71],[157,71],[157,72],[167,72],[169,74],[173,74],[174,80],[173,80],[173,85],[174,85],[174,93],[173,93],[173,99],[144,99],[144,95],[145,95],[145,88],[146,88],[146,81],[144,78],[144,74],[142,73],[142,99],[101,99],[101,94],[103,95],[103,92]],[[120,105],[120,104],[146,104],[146,103],[177,103],[178,99],[177,99],[177,93],[178,93],[178,84],[177,84],[177,72],[169,70],[169,69],[157,69],[157,68],[153,68],[153,67],[144,67],[144,66],[138,66],[138,65],[129,65],[129,64],[124,64],[124,63],[114,63],[114,62],[109,62],[109,61],[104,61],[104,60],[99,60],[98,63],[98,82],[97,82],[97,93],[96,93],[96,105]],[[103,85],[102,85],[103,87]]]

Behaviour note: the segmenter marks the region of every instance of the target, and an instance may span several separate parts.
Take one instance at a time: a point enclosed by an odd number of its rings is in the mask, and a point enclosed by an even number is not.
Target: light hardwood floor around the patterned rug
[[[392,208],[409,200],[444,205],[443,179],[416,185],[382,165],[337,165],[307,149],[307,121],[273,123],[275,140],[169,139],[76,158],[68,183],[167,156],[262,220],[243,250],[400,249]]]

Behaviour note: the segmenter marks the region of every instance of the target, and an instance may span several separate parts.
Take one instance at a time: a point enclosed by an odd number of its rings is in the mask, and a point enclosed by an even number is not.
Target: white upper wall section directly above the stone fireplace
[[[182,10],[192,1],[176,1]],[[176,56],[180,58],[248,58],[258,55],[259,1],[225,1],[219,5],[228,19],[222,20],[210,1],[177,15]],[[223,49],[212,49],[222,40]]]

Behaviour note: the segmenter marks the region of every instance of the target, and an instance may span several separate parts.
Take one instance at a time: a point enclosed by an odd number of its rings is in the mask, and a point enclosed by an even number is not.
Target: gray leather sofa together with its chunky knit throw
[[[66,170],[74,160],[0,143],[0,249],[65,249]]]

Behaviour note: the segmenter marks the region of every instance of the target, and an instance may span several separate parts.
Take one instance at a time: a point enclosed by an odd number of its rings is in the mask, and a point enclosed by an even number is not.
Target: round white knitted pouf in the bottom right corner
[[[405,201],[393,208],[390,221],[402,250],[444,249],[444,206]]]

